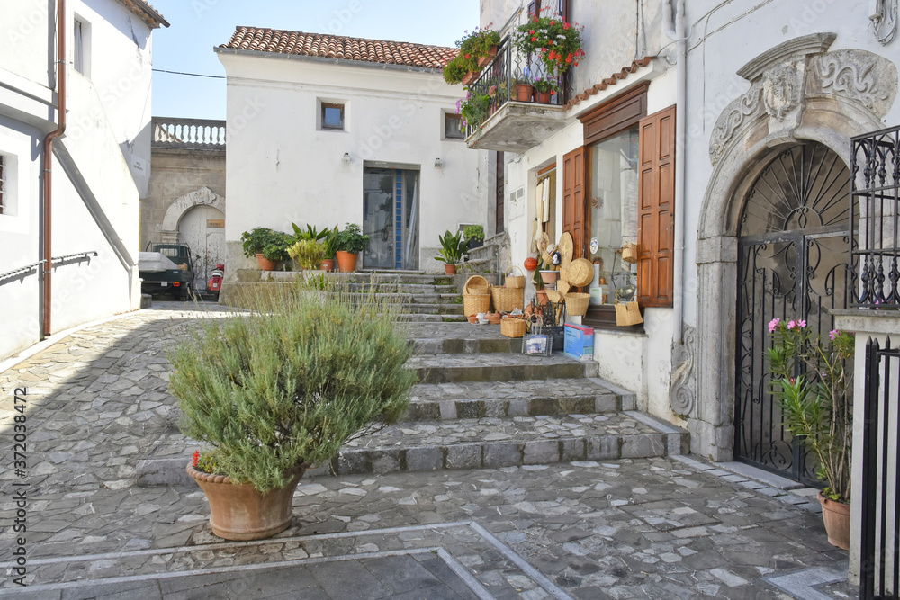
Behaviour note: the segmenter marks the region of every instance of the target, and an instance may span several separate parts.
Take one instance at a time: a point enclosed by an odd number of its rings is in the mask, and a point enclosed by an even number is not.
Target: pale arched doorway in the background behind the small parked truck
[[[225,213],[204,204],[187,210],[178,221],[178,242],[191,247],[194,289],[206,290],[216,264],[225,262]]]

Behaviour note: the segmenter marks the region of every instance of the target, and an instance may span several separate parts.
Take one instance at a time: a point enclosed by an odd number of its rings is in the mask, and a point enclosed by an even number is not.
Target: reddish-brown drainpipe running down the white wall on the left
[[[66,130],[66,0],[57,0],[57,104],[59,123],[56,130],[44,138],[44,197],[43,197],[43,324],[41,339],[50,335],[50,306],[52,302],[53,244],[53,140]]]

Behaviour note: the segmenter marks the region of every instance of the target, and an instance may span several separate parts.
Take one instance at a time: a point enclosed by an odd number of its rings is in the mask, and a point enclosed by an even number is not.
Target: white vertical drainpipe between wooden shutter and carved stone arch
[[[672,298],[672,311],[675,323],[672,330],[672,340],[683,344],[684,333],[684,164],[685,148],[685,121],[688,118],[687,90],[688,90],[688,43],[684,22],[684,0],[675,0],[677,7],[672,12],[673,0],[665,0],[662,11],[663,26],[670,40],[675,41],[675,54],[678,67],[678,87],[675,100],[675,143],[677,153],[675,156],[675,255],[672,257],[672,289],[675,296]]]

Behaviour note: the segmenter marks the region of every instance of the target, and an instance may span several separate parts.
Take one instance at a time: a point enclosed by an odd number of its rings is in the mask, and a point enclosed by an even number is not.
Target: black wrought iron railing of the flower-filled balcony
[[[568,77],[548,73],[544,62],[534,53],[520,52],[510,36],[500,41],[497,55],[482,70],[481,76],[469,87],[474,95],[489,95],[491,104],[488,119],[509,102],[536,103],[562,106],[569,100]],[[534,85],[536,81],[548,81],[556,91],[539,94],[536,90],[519,95],[518,84]],[[523,93],[524,94],[524,93]],[[481,123],[468,123],[465,137],[469,138],[481,129]]]

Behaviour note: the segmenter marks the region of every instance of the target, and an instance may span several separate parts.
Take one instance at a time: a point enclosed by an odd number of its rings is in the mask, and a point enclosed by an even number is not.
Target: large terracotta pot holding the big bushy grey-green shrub
[[[210,500],[212,533],[226,540],[261,540],[287,529],[293,492],[304,472],[306,465],[297,467],[286,487],[260,494],[253,484],[231,483],[224,475],[210,475],[187,464],[187,474]]]

